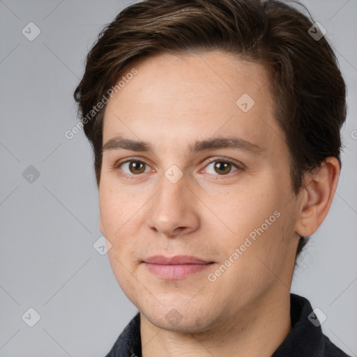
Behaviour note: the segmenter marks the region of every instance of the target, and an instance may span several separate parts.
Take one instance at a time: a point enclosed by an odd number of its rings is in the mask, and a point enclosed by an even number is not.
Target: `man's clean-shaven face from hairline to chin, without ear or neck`
[[[110,264],[155,326],[228,326],[287,294],[298,244],[268,75],[223,52],[160,54],[135,68],[105,109],[99,201]]]

